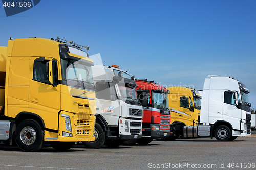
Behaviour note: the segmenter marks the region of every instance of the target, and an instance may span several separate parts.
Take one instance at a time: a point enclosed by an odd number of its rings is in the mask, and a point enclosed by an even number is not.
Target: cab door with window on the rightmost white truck
[[[240,103],[239,93],[231,90],[224,91],[224,103],[222,104],[222,118],[230,122],[233,126],[238,125],[234,129],[240,130],[240,120],[242,116],[242,110],[237,108],[237,104]]]

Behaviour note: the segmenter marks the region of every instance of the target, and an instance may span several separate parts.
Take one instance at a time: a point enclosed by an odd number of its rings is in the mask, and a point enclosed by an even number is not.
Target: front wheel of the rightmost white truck
[[[215,138],[219,141],[228,141],[231,137],[230,129],[225,125],[220,125],[215,129]]]

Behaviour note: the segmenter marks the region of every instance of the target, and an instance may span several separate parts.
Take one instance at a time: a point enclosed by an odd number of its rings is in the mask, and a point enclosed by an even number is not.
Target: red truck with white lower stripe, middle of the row
[[[154,81],[135,79],[135,77],[132,79],[138,84],[136,91],[144,110],[142,138],[137,139],[136,142],[139,145],[146,145],[153,139],[168,137],[170,135],[170,110],[167,96],[169,90]],[[129,145],[129,142],[126,144]]]

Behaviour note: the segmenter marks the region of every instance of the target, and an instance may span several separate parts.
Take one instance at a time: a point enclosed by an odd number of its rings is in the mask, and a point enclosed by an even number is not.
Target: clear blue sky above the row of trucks
[[[105,65],[166,86],[203,89],[207,75],[233,75],[256,108],[255,7],[254,0],[41,0],[9,17],[0,7],[0,46],[10,36],[59,36],[90,46]]]

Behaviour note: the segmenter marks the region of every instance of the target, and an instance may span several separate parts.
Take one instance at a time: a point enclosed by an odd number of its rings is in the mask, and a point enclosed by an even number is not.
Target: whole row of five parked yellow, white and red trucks
[[[69,43],[69,44],[68,44]],[[249,136],[249,90],[209,75],[203,91],[165,88],[94,65],[73,41],[12,39],[0,47],[0,141],[24,151],[145,145],[153,139]],[[201,93],[201,95],[200,95]]]

